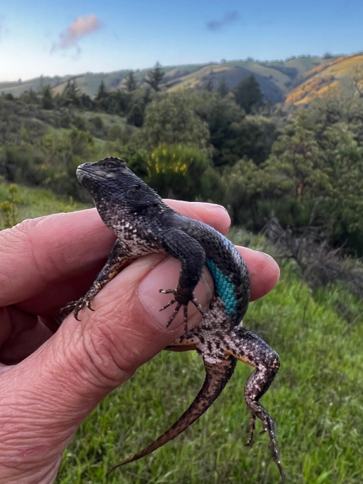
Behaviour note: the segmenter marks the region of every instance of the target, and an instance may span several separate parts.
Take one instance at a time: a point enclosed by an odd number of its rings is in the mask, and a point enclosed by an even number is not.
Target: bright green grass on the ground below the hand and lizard
[[[262,238],[234,231],[234,241]],[[297,269],[250,305],[244,324],[279,352],[281,370],[263,405],[276,421],[288,483],[358,484],[363,468],[362,323],[348,326],[337,308],[362,312],[343,287],[312,294]],[[279,482],[267,435],[245,447],[249,415],[238,363],[221,397],[196,424],[144,459],[106,476],[173,424],[203,383],[194,352],[162,352],[98,405],[64,453],[56,483],[222,484]],[[259,427],[260,428],[260,427]]]

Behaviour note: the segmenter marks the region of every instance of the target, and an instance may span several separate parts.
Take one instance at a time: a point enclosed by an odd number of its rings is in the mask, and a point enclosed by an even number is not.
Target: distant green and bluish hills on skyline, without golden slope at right
[[[174,65],[163,67],[165,77],[163,82],[166,89],[203,89],[206,84],[212,83],[213,89],[217,89],[222,79],[232,89],[248,75],[255,75],[260,83],[265,98],[274,102],[284,101],[286,94],[291,89],[295,79],[303,76],[319,65],[325,65],[339,56],[326,54],[323,57],[299,56],[284,61],[261,62],[248,58],[246,60],[221,60],[220,63],[196,64],[196,65]],[[150,69],[136,70],[134,72],[139,84],[145,84],[144,77]],[[75,76],[37,77],[27,81],[0,82],[0,92],[19,96],[29,89],[39,91],[42,87],[50,85],[54,91],[63,91],[69,79],[76,79],[77,87],[82,93],[94,97],[96,91],[104,82],[106,89],[122,89],[122,81],[129,73],[129,70],[117,70],[114,72],[86,72]]]

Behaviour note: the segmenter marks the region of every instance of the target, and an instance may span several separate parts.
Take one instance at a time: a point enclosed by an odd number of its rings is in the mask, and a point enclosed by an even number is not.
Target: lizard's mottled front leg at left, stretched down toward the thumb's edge
[[[87,293],[82,298],[79,298],[79,300],[68,303],[68,305],[63,307],[60,312],[65,314],[65,316],[68,316],[68,314],[74,311],[75,319],[79,321],[79,311],[84,307],[88,307],[90,310],[92,310],[91,300],[101,291],[103,286],[106,286],[108,282],[117,276],[123,267],[125,267],[125,264],[129,259],[130,257],[125,255],[125,247],[123,246],[122,242],[117,239],[117,241],[115,241],[113,244],[113,248],[108,256],[106,265],[103,267],[101,272],[98,273],[98,276]]]

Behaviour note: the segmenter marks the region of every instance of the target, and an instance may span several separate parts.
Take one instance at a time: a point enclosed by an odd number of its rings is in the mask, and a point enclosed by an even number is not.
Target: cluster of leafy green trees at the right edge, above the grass
[[[237,177],[248,184],[244,206],[250,208],[255,228],[274,212],[282,224],[314,224],[333,242],[346,243],[362,255],[362,115],[358,98],[350,109],[338,98],[321,101],[292,117],[264,163],[234,166],[234,183]],[[238,197],[229,200],[235,222],[240,221]]]

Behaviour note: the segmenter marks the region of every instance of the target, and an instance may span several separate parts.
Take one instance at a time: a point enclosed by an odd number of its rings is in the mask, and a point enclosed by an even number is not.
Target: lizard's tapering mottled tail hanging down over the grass
[[[212,405],[212,403],[222,393],[223,388],[226,386],[234,372],[234,368],[236,367],[236,359],[233,356],[230,356],[228,359],[225,359],[223,362],[218,362],[217,364],[204,361],[204,367],[205,381],[203,383],[203,387],[196,396],[195,400],[191,403],[189,409],[187,409],[186,412],[181,415],[179,420],[175,422],[174,425],[168,428],[163,435],[160,435],[160,437],[154,440],[154,442],[148,445],[148,447],[146,447],[144,450],[141,450],[141,452],[134,454],[126,461],[117,464],[117,466],[114,466],[112,469],[110,469],[110,471],[151,454],[151,452],[166,444],[169,442],[169,440],[177,437],[179,433],[184,432],[186,428],[199,419],[199,417],[203,415],[206,410],[208,410],[210,405]]]

